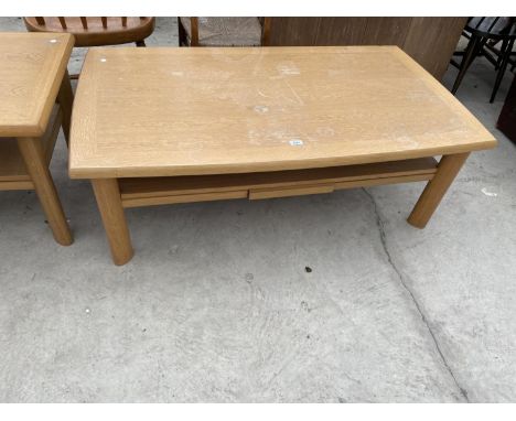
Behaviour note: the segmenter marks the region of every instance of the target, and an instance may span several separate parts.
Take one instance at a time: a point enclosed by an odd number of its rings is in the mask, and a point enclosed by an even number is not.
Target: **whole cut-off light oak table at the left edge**
[[[69,134],[73,45],[68,34],[0,33],[0,191],[35,190],[64,246],[73,238],[49,163],[60,128]]]

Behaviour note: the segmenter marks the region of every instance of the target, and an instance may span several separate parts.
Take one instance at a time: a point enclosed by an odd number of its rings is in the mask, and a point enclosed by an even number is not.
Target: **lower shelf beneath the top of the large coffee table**
[[[123,207],[173,203],[261,199],[331,193],[341,188],[429,181],[437,171],[433,158],[374,164],[244,174],[120,179]]]

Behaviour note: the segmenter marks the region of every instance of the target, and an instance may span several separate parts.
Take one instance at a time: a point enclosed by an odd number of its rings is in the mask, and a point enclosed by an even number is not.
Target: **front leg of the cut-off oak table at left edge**
[[[55,240],[63,246],[69,246],[74,239],[63,207],[61,206],[60,197],[55,191],[49,166],[45,163],[41,139],[19,138],[18,148],[23,156],[26,171],[32,179]]]

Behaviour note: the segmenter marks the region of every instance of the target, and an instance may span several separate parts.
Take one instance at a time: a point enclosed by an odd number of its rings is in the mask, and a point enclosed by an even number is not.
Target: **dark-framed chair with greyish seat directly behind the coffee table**
[[[179,18],[180,46],[268,45],[270,18]]]

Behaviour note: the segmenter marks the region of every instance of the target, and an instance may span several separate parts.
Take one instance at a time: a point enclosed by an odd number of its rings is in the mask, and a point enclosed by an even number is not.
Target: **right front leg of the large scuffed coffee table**
[[[428,182],[407,219],[410,225],[426,227],[469,155],[470,152],[465,152],[441,158],[436,175]]]

